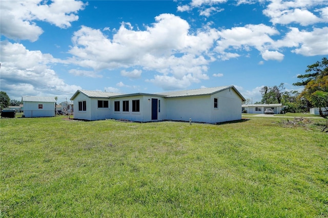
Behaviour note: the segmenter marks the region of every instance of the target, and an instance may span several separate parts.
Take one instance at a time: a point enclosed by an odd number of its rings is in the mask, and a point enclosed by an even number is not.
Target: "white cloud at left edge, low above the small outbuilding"
[[[57,96],[72,95],[79,86],[69,85],[50,68],[61,62],[50,54],[29,51],[20,43],[1,42],[1,86],[11,90],[11,99],[22,95]]]

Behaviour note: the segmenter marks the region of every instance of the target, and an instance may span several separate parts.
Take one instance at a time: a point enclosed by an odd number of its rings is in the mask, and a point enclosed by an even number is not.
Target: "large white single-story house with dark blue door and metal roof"
[[[75,105],[74,119],[218,123],[240,120],[245,99],[230,85],[156,94],[77,90],[70,100]]]

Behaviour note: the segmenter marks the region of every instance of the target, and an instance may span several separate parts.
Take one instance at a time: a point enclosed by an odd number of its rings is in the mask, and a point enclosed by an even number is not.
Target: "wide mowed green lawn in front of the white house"
[[[1,119],[1,216],[328,216],[319,130],[62,118]]]

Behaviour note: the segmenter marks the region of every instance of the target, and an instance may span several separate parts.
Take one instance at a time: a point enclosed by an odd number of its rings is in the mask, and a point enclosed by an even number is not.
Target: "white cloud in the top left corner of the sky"
[[[1,1],[1,34],[15,40],[36,41],[43,33],[35,24],[41,20],[59,28],[68,28],[78,19],[76,12],[85,4],[80,1]]]

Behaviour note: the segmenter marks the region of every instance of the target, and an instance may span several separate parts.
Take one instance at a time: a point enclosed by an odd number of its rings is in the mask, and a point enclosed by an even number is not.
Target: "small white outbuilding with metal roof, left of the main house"
[[[54,117],[54,97],[23,96],[24,117]]]

